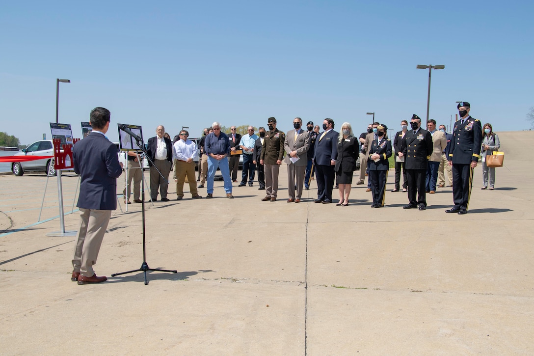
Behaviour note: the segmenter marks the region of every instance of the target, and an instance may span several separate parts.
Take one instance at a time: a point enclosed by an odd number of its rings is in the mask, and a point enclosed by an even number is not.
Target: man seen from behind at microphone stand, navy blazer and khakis
[[[80,175],[80,230],[74,258],[71,281],[78,284],[100,283],[106,276],[98,277],[93,270],[98,251],[106,232],[111,211],[117,208],[117,178],[122,164],[117,158],[117,148],[104,136],[109,129],[111,113],[104,107],[91,111],[92,132],[73,148],[74,172]]]

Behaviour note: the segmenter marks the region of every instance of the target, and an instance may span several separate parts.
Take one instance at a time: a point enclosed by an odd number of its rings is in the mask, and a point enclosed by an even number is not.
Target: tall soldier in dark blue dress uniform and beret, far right
[[[454,206],[445,212],[466,214],[473,185],[473,168],[480,159],[482,125],[469,115],[471,105],[468,102],[460,102],[457,107],[460,120],[454,122],[449,151]]]

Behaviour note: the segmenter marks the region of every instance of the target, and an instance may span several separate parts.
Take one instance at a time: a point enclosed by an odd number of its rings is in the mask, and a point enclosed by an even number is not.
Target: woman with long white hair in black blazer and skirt
[[[339,203],[337,206],[349,205],[352,174],[356,171],[356,160],[359,156],[358,139],[352,135],[350,123],[343,122],[337,139],[337,159],[335,172],[337,188],[339,188]]]

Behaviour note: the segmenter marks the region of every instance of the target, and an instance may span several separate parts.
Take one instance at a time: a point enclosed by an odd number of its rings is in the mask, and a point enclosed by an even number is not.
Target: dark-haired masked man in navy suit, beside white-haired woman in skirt
[[[313,164],[317,171],[317,199],[313,203],[332,203],[332,189],[335,180],[335,160],[337,158],[337,136],[334,120],[323,121],[323,133],[317,136]]]

